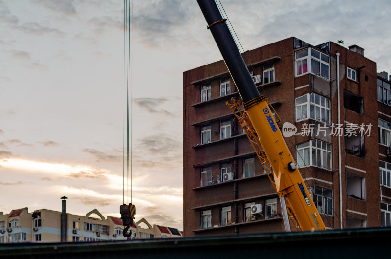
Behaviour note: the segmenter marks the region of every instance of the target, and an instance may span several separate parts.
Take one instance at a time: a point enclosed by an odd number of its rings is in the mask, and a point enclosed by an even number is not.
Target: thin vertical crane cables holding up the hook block
[[[131,8],[131,13],[130,13]],[[131,16],[131,22],[130,22]],[[131,25],[130,25],[131,24]],[[131,32],[130,32],[131,29]],[[124,95],[123,95],[123,159],[122,159],[122,202],[125,203],[125,149],[127,172],[127,203],[129,203],[129,131],[130,131],[130,202],[133,201],[133,1],[124,0]],[[131,38],[131,40],[130,40]],[[126,64],[125,64],[126,57]],[[131,67],[131,68],[130,68]],[[131,87],[131,89],[130,89]],[[126,102],[126,108],[125,108]],[[131,113],[130,113],[131,109]],[[129,117],[131,121],[129,121]],[[126,121],[126,124],[125,124]],[[130,127],[129,127],[130,123]],[[125,132],[126,130],[126,132]],[[126,146],[125,146],[126,145]]]

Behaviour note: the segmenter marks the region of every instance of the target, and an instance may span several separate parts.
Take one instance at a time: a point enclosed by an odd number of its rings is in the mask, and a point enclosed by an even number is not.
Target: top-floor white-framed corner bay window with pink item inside
[[[330,61],[326,54],[313,48],[307,48],[295,52],[296,76],[307,72],[330,79]],[[308,63],[311,65],[308,67]]]

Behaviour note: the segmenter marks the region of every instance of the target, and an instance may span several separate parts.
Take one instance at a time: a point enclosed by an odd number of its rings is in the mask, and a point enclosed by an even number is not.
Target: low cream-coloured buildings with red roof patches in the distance
[[[28,212],[28,208],[0,212],[0,243],[61,242],[61,212],[47,209]],[[92,215],[92,216],[91,216]],[[66,214],[66,242],[126,240],[122,220],[94,209],[85,216]],[[145,218],[130,227],[131,239],[182,237],[176,228],[151,225]]]

